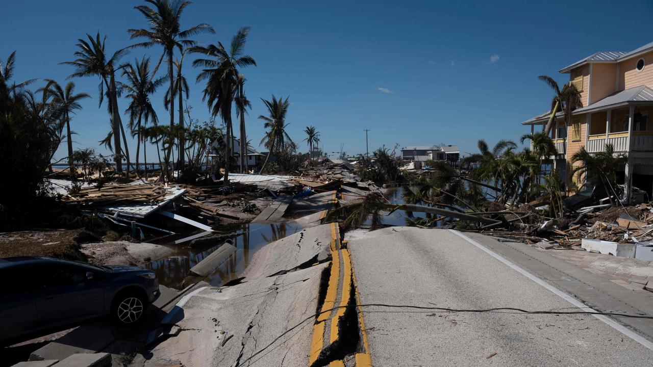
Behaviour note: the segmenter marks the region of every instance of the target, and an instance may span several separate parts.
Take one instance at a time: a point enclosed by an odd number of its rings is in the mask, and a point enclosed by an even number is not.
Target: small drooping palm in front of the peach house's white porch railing
[[[611,204],[615,204],[617,197],[616,167],[626,161],[626,155],[614,152],[613,144],[605,144],[605,150],[598,153],[589,153],[582,147],[581,150],[571,156],[571,163],[578,163],[571,170],[571,175],[578,177],[585,176],[594,184],[601,183],[605,192],[608,193]]]

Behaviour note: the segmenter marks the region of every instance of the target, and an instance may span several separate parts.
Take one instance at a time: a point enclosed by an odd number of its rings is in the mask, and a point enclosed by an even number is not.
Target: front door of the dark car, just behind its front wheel
[[[48,264],[43,274],[44,288],[36,300],[40,325],[72,323],[104,314],[104,282],[93,270]]]

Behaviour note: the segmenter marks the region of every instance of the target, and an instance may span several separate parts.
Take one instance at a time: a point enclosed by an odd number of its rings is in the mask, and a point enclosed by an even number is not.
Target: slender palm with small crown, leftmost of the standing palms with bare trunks
[[[82,105],[80,101],[85,98],[91,98],[87,93],[74,93],[75,84],[73,82],[68,82],[65,88],[61,88],[59,83],[51,79],[46,79],[48,84],[42,89],[46,95],[52,97],[52,103],[55,108],[58,110],[61,119],[66,124],[66,136],[68,140],[68,165],[69,172],[71,175],[71,180],[73,178],[72,172],[72,133],[71,133],[71,114],[75,113],[75,110],[81,110]]]

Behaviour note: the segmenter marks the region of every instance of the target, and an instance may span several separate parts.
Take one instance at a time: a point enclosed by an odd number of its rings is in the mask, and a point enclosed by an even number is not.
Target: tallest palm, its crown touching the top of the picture
[[[146,3],[150,3],[153,7],[150,7],[149,5],[138,5],[134,8],[143,14],[150,25],[150,29],[128,29],[127,31],[131,35],[131,39],[147,39],[145,42],[140,42],[131,47],[148,48],[157,44],[163,46],[163,55],[161,56],[161,59],[163,59],[164,56],[167,56],[168,59],[168,78],[170,79],[170,88],[168,89],[170,99],[168,103],[170,106],[170,129],[172,129],[174,127],[174,71],[172,69],[174,65],[172,62],[174,49],[178,48],[181,52],[183,46],[193,46],[195,44],[195,41],[188,39],[188,37],[199,33],[215,33],[215,31],[213,27],[206,23],[200,23],[195,25],[195,27],[183,31],[181,30],[180,19],[182,17],[182,12],[185,7],[191,4],[190,1],[145,1]],[[157,69],[159,69],[161,59],[159,59],[159,64],[152,75],[156,74]],[[172,144],[170,144],[170,149],[172,149]],[[172,151],[167,152],[166,161],[169,161],[171,152]]]

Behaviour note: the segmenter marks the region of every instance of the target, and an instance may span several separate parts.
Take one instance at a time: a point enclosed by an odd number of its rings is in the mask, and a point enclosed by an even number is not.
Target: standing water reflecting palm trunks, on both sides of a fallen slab
[[[302,225],[294,221],[269,225],[251,223],[238,225],[229,232],[232,234],[232,242],[237,251],[204,280],[211,285],[218,286],[235,279],[238,274],[245,270],[251,257],[261,247],[294,234],[302,230],[302,228]],[[157,274],[161,284],[180,289],[187,285],[184,284],[184,279],[187,278],[188,271],[215,251],[222,243],[215,242],[214,246],[200,248],[174,246],[174,253],[165,259],[151,262],[148,264],[148,268]]]

